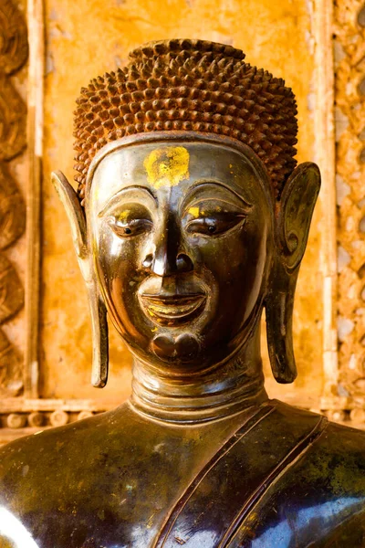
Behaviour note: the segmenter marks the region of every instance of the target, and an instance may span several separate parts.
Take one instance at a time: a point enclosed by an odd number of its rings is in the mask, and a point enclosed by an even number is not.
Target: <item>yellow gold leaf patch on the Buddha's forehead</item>
[[[154,149],[143,162],[148,182],[155,188],[179,184],[189,177],[189,160],[183,146]]]

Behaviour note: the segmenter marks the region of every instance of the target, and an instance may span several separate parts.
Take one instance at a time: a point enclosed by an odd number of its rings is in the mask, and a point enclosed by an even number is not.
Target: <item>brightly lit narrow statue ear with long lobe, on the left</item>
[[[98,285],[92,269],[92,258],[89,255],[86,217],[78,201],[78,195],[68,183],[62,172],[52,173],[52,183],[57,195],[65,207],[71,227],[73,242],[78,256],[78,266],[85,280],[92,325],[92,376],[91,383],[103,388],[108,381],[109,342],[107,310],[99,294]]]

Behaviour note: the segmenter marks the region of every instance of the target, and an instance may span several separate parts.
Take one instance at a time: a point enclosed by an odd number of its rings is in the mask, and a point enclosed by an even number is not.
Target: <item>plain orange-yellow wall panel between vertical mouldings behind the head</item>
[[[40,395],[117,403],[130,393],[130,355],[110,328],[110,383],[89,385],[91,343],[86,292],[66,215],[50,183],[73,178],[72,111],[89,79],[117,68],[148,40],[204,38],[242,48],[246,60],[286,79],[297,95],[298,161],[314,159],[314,55],[307,0],[47,0]],[[295,308],[298,379],[278,386],[266,362],[270,395],[318,401],[322,391],[322,303],[318,204]],[[264,341],[264,346],[266,346]],[[314,405],[314,404],[313,404]]]

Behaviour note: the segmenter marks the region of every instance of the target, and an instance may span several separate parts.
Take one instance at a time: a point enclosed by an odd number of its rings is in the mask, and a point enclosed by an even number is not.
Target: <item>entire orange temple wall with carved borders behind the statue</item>
[[[17,228],[1,250],[9,192],[0,177],[0,333],[7,341],[3,350],[0,338],[0,440],[104,410],[130,393],[130,355],[112,327],[109,385],[103,391],[89,385],[86,291],[50,172],[60,169],[73,179],[72,112],[80,87],[122,64],[142,42],[170,37],[241,47],[249,63],[283,77],[296,93],[297,159],[319,164],[323,187],[297,286],[298,378],[276,385],[263,332],[266,386],[272,397],[361,426],[364,6],[355,0],[339,0],[336,9],[328,0],[0,0],[0,35],[16,36],[20,47],[23,14],[30,45],[28,60],[9,74],[9,52],[0,40],[0,81],[19,90],[28,110],[27,123],[25,113],[12,121],[26,140],[11,161],[1,152],[11,135],[0,129],[0,168],[5,158],[26,204],[25,213],[20,199],[14,201],[12,215],[27,220],[23,235]],[[10,120],[8,104],[0,88],[0,128]],[[8,288],[14,276],[2,276],[3,256],[19,278],[13,292]],[[11,302],[11,318],[2,321]]]

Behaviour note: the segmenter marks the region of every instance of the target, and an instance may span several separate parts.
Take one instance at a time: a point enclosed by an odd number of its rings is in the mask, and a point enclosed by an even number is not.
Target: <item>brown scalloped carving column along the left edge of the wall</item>
[[[0,250],[13,245],[26,227],[26,205],[6,163],[26,147],[26,104],[9,75],[21,68],[28,54],[26,21],[10,0],[0,5]],[[0,252],[0,325],[24,305],[24,290],[16,269]],[[0,329],[0,396],[23,389],[23,358]]]

